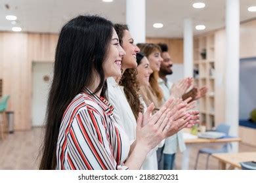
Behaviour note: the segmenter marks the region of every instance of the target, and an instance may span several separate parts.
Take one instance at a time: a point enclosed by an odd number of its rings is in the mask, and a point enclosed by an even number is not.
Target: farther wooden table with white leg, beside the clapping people
[[[186,150],[182,153],[182,170],[189,169],[189,157],[190,149],[194,145],[203,144],[203,143],[226,143],[226,142],[240,142],[239,137],[227,137],[222,139],[200,139],[196,135],[191,135],[190,133],[183,133],[184,141],[186,143]]]

